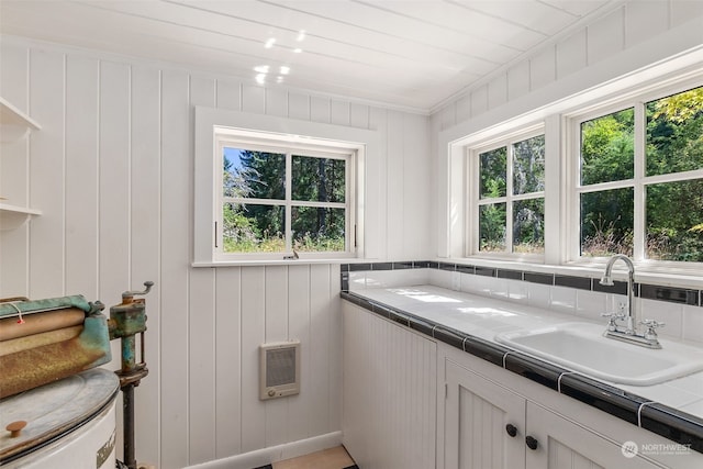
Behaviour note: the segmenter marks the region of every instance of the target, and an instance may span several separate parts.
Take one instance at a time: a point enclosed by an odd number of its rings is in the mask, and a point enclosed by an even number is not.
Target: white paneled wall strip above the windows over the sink
[[[701,1],[631,0],[622,3],[621,8],[595,18],[590,24],[565,31],[553,42],[489,77],[486,82],[439,107],[433,113],[433,120],[437,121],[439,130],[449,129],[637,47],[643,48],[637,57],[621,63],[615,60],[617,67],[609,70],[610,76],[604,76],[603,81],[633,71],[627,68],[631,65],[651,64],[703,41]],[[556,90],[551,98],[563,98],[558,94],[559,89]],[[529,104],[537,107],[547,102]],[[515,113],[511,115],[509,112],[504,119],[525,111],[516,108]]]

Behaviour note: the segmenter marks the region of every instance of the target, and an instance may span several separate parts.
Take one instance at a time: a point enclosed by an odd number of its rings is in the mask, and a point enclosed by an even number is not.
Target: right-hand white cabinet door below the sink
[[[536,442],[527,449],[527,469],[654,469],[640,456],[554,412],[527,401],[527,436]],[[533,445],[534,446],[534,445]]]

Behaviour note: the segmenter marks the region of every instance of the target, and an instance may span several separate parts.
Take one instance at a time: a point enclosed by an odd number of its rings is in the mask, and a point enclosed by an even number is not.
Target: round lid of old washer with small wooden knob
[[[112,404],[120,389],[114,372],[93,368],[0,400],[0,466],[69,434]],[[25,421],[12,438],[7,426]]]

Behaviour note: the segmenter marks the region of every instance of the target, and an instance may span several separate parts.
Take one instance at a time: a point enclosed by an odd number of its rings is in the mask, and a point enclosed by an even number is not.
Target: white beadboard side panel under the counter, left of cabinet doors
[[[437,344],[344,304],[343,443],[364,469],[435,467]]]

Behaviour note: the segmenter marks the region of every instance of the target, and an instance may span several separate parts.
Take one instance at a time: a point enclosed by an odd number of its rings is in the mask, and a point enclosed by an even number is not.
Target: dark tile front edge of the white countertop
[[[341,297],[404,327],[703,454],[703,420],[700,417],[356,293],[342,291]]]

